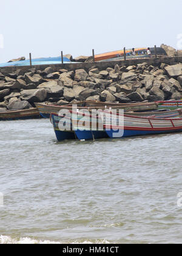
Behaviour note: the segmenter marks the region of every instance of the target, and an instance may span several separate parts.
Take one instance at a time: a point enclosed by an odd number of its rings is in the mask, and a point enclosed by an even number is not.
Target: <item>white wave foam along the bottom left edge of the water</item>
[[[1,235],[0,236],[0,244],[65,244],[65,242],[55,242],[55,241],[49,241],[49,240],[36,240],[29,237],[25,238],[11,238],[10,236]],[[109,244],[109,241],[102,240],[102,241],[95,241],[95,243],[101,243],[101,244]],[[73,241],[70,244],[93,244],[92,241]]]

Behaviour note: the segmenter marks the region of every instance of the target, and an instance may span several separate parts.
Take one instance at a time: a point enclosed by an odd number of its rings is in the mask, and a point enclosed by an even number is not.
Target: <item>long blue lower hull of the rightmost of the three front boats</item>
[[[132,136],[140,136],[140,135],[148,135],[148,134],[160,134],[160,133],[170,133],[170,132],[182,132],[182,130],[159,130],[159,131],[152,131],[152,130],[124,130],[122,137],[116,137],[116,131],[113,130],[106,130],[107,135],[110,138],[123,138],[123,137],[132,137]]]

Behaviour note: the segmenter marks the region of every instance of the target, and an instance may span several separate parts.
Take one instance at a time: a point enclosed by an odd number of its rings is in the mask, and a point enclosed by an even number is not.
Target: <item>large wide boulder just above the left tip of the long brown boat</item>
[[[20,98],[22,101],[42,102],[47,98],[47,90],[45,88],[22,90]]]

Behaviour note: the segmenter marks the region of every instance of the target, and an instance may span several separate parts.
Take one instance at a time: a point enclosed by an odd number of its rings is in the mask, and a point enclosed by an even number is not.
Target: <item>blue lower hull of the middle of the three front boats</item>
[[[108,135],[104,131],[91,131],[91,130],[75,130],[78,140],[93,140],[93,138],[108,138]]]

